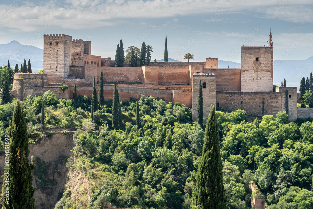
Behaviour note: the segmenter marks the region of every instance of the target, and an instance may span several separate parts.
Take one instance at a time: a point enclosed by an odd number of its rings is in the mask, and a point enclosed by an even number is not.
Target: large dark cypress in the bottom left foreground
[[[32,187],[34,166],[29,164],[28,155],[28,133],[25,121],[25,112],[19,101],[16,102],[13,112],[12,123],[9,126],[8,135],[10,136],[9,146],[9,185],[2,187],[2,192],[8,187],[9,201],[5,203],[4,208],[35,208],[35,199],[33,197],[35,189]],[[5,182],[6,177],[3,177]]]

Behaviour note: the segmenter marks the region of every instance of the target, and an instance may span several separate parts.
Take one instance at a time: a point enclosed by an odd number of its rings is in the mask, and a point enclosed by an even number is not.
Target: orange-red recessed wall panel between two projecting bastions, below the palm
[[[159,84],[164,85],[190,85],[188,68],[159,68]]]

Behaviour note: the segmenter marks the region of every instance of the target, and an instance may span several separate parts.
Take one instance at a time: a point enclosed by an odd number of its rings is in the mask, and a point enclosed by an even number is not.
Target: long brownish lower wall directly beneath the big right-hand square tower
[[[264,101],[264,112],[262,107]],[[241,109],[258,116],[276,115],[282,110],[281,92],[216,92],[217,107],[236,110]]]

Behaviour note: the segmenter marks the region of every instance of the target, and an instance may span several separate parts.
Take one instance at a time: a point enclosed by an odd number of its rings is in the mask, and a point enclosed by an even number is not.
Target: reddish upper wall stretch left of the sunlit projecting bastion
[[[99,69],[97,71],[98,81],[100,80]],[[141,67],[102,67],[103,81],[128,81],[144,83],[144,76]]]

